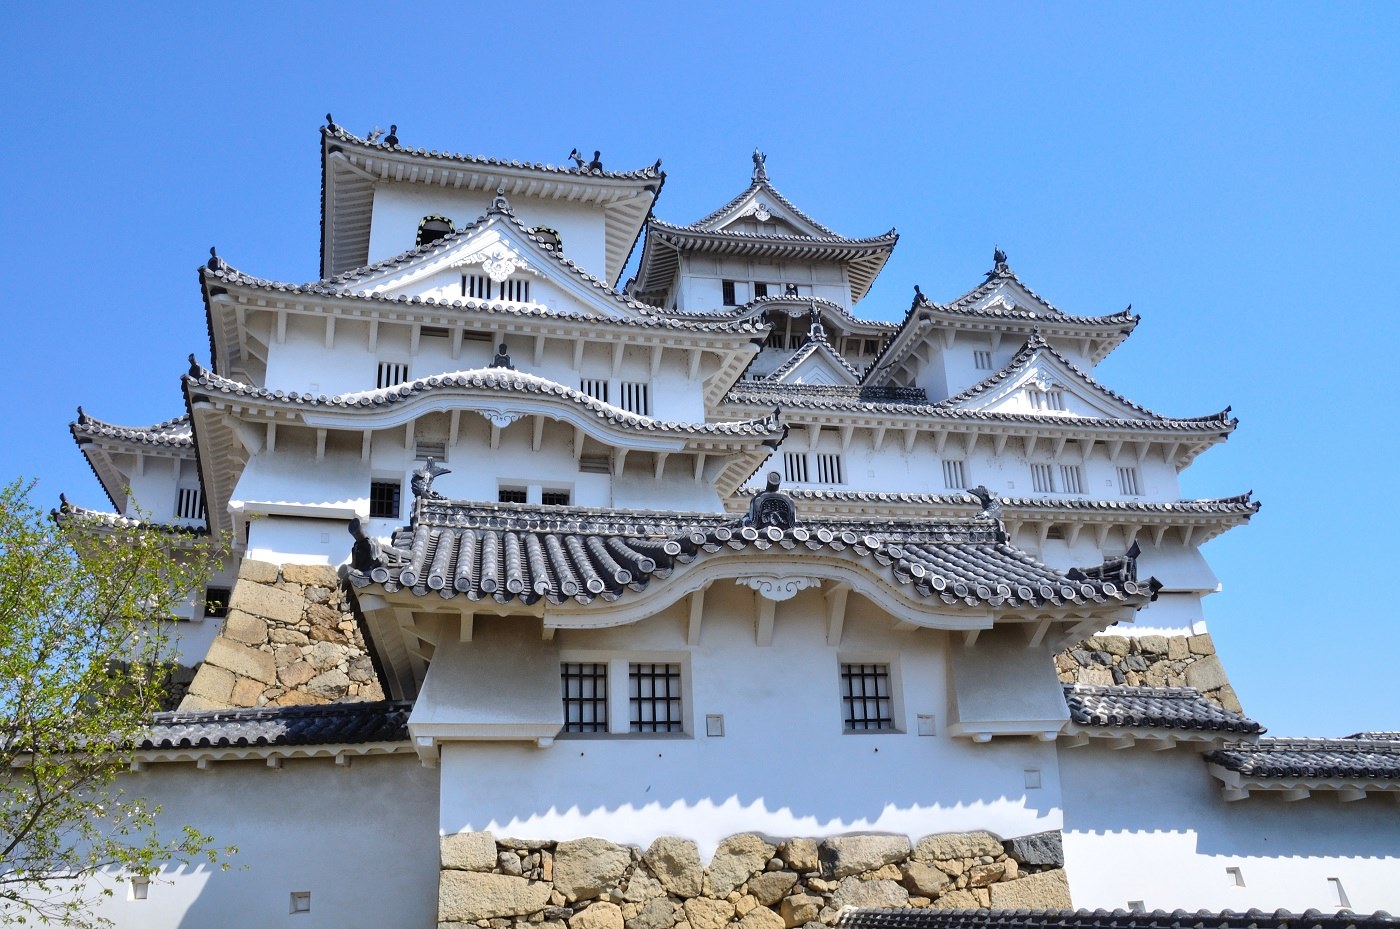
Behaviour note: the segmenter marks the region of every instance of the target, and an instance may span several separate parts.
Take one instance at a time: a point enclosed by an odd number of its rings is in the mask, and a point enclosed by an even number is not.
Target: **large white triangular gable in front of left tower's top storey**
[[[546,248],[498,197],[491,210],[468,227],[428,245],[328,281],[346,294],[435,297],[461,299],[461,276],[486,276],[496,285],[507,280],[546,283],[577,309],[598,316],[641,316],[643,305],[613,290]],[[535,285],[535,284],[532,284]],[[508,301],[505,295],[493,298]],[[536,302],[539,301],[535,297]],[[515,302],[525,302],[515,298]]]

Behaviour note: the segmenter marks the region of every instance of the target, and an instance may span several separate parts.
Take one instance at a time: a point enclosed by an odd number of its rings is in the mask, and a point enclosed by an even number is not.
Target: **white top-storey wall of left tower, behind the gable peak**
[[[374,215],[370,222],[370,263],[393,257],[413,248],[419,222],[430,214],[449,217],[461,229],[484,215],[496,192],[448,190],[421,185],[384,183],[374,190]],[[564,241],[564,256],[595,277],[606,277],[603,211],[596,206],[510,197],[515,218],[526,228],[547,225]],[[610,284],[612,281],[609,281]]]

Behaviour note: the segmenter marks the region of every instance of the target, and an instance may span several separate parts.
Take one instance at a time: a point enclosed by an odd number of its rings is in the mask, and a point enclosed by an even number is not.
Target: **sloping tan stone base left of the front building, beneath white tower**
[[[384,700],[335,568],[244,561],[181,709]]]

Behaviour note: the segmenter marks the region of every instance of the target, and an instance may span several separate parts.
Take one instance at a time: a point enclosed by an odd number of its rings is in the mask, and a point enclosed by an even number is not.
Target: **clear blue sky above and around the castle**
[[[66,424],[182,411],[210,245],[316,277],[326,111],[427,148],[659,157],[680,222],[760,146],[827,225],[899,228],[864,315],[960,294],[993,243],[1067,312],[1133,304],[1100,379],[1233,404],[1184,491],[1264,502],[1205,548],[1246,711],[1400,728],[1400,4],[686,7],[6,4],[0,476],[105,504]]]

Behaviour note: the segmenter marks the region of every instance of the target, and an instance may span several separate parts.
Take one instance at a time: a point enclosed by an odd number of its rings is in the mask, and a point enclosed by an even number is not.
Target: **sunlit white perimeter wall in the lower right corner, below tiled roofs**
[[[1060,771],[1075,907],[1336,911],[1329,877],[1358,912],[1400,907],[1394,797],[1226,803],[1187,749],[1063,749]]]

